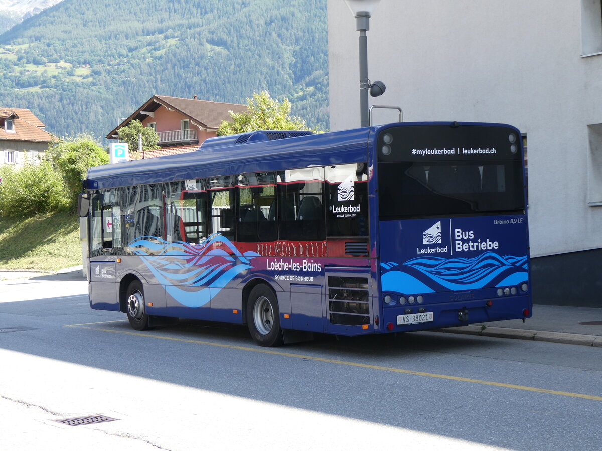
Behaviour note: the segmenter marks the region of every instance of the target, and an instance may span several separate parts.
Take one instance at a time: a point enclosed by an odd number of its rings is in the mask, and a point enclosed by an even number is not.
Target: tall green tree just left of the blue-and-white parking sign
[[[68,204],[72,208],[77,204],[81,181],[87,176],[88,169],[109,162],[108,153],[87,134],[58,138],[48,147],[45,158],[63,178]]]

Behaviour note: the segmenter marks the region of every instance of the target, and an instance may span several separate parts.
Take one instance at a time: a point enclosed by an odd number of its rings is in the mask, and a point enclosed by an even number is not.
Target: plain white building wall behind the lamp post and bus
[[[328,22],[330,126],[358,127],[359,33],[343,0],[328,0]],[[518,127],[527,133],[532,256],[602,247],[602,206],[590,205],[602,203],[602,170],[589,167],[588,137],[588,125],[602,123],[602,55],[582,57],[581,2],[381,0],[370,28],[368,76],[386,84],[371,105],[399,105],[405,121]],[[374,118],[397,120],[393,110]]]

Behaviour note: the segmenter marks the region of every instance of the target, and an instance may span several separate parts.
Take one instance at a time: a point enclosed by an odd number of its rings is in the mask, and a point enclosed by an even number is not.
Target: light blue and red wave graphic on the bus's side
[[[217,233],[199,244],[143,236],[129,247],[167,293],[187,307],[207,304],[238,274],[252,268],[250,260],[259,255],[241,254],[228,238]]]

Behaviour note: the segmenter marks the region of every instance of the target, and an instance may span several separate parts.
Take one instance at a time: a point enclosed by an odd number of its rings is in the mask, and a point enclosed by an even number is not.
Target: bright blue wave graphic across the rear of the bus
[[[517,285],[527,280],[527,256],[499,256],[486,252],[472,259],[417,257],[403,265],[381,265],[384,291],[433,293]],[[394,269],[393,269],[394,268]]]

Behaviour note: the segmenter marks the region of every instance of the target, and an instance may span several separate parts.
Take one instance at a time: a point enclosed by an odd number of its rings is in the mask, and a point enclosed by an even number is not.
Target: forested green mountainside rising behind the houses
[[[326,0],[64,0],[0,35],[0,106],[103,137],[153,94],[287,96],[327,124]]]

